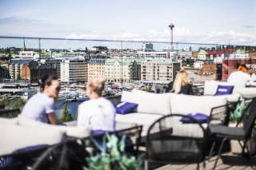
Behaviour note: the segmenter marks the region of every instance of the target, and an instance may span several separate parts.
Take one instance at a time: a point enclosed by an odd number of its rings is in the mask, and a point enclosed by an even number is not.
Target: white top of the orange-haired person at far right
[[[227,79],[228,82],[234,84],[237,87],[245,87],[246,82],[250,81],[250,75],[248,73],[243,73],[242,71],[234,71],[230,74]]]

